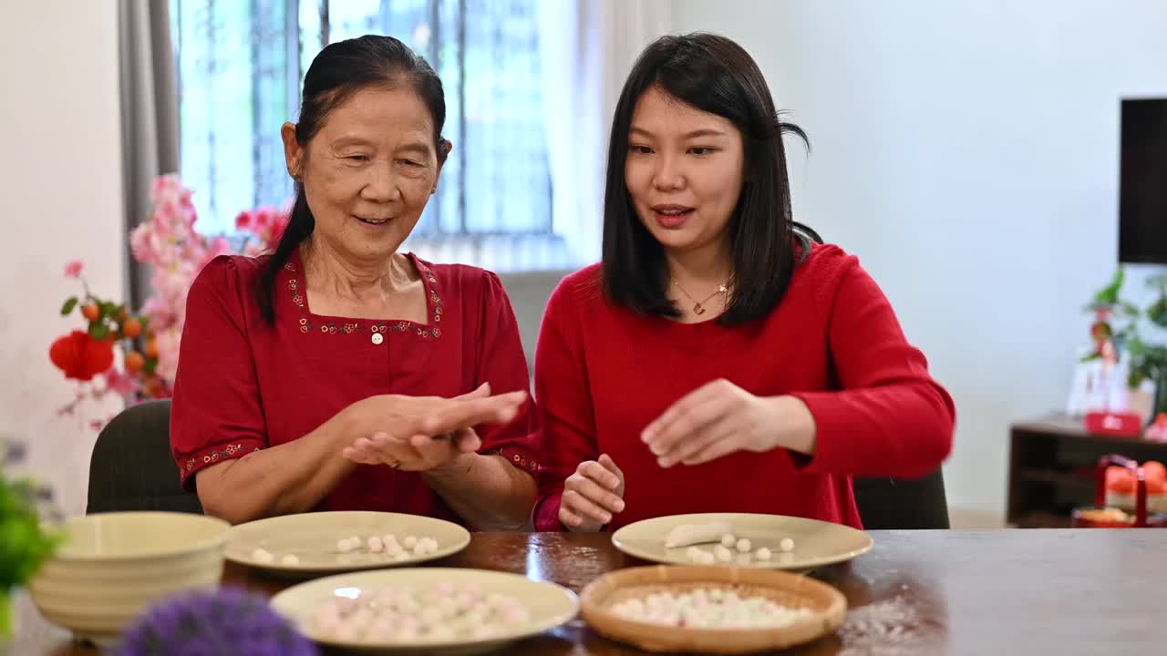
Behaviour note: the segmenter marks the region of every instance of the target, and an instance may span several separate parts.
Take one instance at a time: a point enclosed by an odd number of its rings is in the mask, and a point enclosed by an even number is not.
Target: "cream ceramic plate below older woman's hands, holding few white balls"
[[[348,553],[341,552],[338,542],[357,537],[392,533],[399,543],[407,536],[429,537],[438,550],[425,556],[410,553],[406,560],[396,560],[386,553],[370,553],[362,545]],[[226,537],[228,560],[275,573],[314,574],[400,567],[435,560],[457,553],[470,544],[470,533],[462,526],[443,519],[398,512],[303,512],[258,519],[233,526]],[[263,550],[272,556],[266,560],[257,553]],[[286,556],[294,563],[285,563]]]

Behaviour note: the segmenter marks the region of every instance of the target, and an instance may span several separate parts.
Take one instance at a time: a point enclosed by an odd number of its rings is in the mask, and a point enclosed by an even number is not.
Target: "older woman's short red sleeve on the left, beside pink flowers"
[[[256,365],[244,320],[250,286],[219,256],[190,287],[170,407],[170,451],[182,484],[216,462],[265,448]]]

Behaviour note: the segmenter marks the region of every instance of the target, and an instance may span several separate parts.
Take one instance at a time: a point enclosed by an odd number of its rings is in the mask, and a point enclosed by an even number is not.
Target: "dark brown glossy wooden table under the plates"
[[[1167,530],[873,531],[875,549],[815,575],[844,592],[847,620],[787,654],[1146,654],[1167,644]],[[524,573],[581,589],[638,565],[607,535],[477,533],[438,563]],[[229,565],[224,582],[273,593],[286,584]],[[14,654],[96,655],[49,626],[27,598]],[[637,650],[572,622],[508,655]]]

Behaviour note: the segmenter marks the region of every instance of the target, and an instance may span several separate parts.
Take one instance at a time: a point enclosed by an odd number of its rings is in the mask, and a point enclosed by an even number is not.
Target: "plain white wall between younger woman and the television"
[[[955,396],[951,504],[1002,511],[1008,425],[1064,406],[1079,308],[1117,264],[1118,100],[1167,96],[1167,2],[675,0],[673,15],[738,40],[810,133],[796,217],[860,256]]]

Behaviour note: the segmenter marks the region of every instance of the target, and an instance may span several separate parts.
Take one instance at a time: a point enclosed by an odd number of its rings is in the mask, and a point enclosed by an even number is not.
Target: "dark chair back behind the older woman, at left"
[[[170,454],[169,400],[127,407],[93,445],[85,512],[124,510],[203,511],[198,495],[179,484],[179,466]]]

